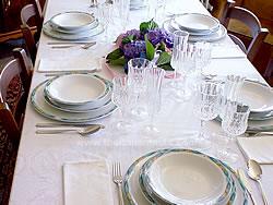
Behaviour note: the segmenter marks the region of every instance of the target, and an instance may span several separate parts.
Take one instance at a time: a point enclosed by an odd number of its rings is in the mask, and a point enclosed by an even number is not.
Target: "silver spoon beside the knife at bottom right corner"
[[[262,183],[261,183],[261,176],[262,176],[262,169],[261,169],[261,166],[253,159],[249,159],[248,160],[248,176],[257,181],[260,185],[260,189],[261,189],[261,192],[262,192],[262,200],[263,200],[263,203],[265,205],[269,205],[269,202],[266,200],[266,196],[265,196],[265,193],[264,193],[264,190],[262,188]]]

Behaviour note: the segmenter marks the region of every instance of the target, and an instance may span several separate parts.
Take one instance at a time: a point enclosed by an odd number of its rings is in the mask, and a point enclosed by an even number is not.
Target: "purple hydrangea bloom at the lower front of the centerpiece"
[[[144,40],[135,40],[123,46],[124,57],[127,59],[139,58],[141,53],[146,51]]]

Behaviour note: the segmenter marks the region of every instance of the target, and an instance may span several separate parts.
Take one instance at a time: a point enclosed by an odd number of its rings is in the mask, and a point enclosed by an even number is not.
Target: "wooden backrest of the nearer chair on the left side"
[[[14,59],[0,72],[0,119],[8,135],[17,141],[31,84],[29,70],[33,65],[24,49],[16,48],[13,53]],[[14,86],[20,91],[10,91],[11,82],[14,80],[20,81],[19,84],[22,83],[22,86]]]

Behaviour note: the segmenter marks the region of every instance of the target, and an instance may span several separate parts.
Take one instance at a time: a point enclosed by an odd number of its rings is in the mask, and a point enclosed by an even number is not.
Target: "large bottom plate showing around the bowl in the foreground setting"
[[[130,205],[147,205],[147,204],[158,204],[155,195],[152,195],[151,192],[147,192],[146,189],[143,186],[143,181],[140,176],[140,172],[142,170],[143,165],[152,157],[154,157],[157,154],[163,154],[165,152],[171,152],[173,149],[159,149],[153,153],[149,153],[139,159],[136,159],[128,169],[126,176],[124,176],[124,182],[122,186],[123,194],[126,196],[126,200],[128,204]],[[177,149],[176,149],[177,150]],[[179,149],[183,150],[185,149]],[[194,152],[194,150],[187,150],[187,152]],[[198,152],[194,152],[198,153]],[[201,153],[199,153],[202,155]],[[212,158],[212,157],[211,157]],[[234,204],[234,205],[241,205],[241,204],[249,204],[248,195],[246,189],[241,185],[238,178],[236,177],[235,172],[225,164],[221,162],[217,159],[212,158],[214,161],[216,161],[218,165],[224,167],[226,169],[226,172],[230,174],[230,178],[234,181],[234,190],[230,193],[230,197],[227,203],[225,204]],[[162,202],[162,204],[166,204]]]

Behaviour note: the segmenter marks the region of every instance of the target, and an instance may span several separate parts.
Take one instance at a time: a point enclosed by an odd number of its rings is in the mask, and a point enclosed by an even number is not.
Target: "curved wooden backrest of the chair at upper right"
[[[262,28],[258,17],[245,8],[229,7],[224,16],[224,25],[226,27],[228,26],[230,19],[240,21],[249,27],[252,40],[247,48],[247,57],[251,62],[253,62],[264,38],[269,34],[269,31],[266,28]]]

